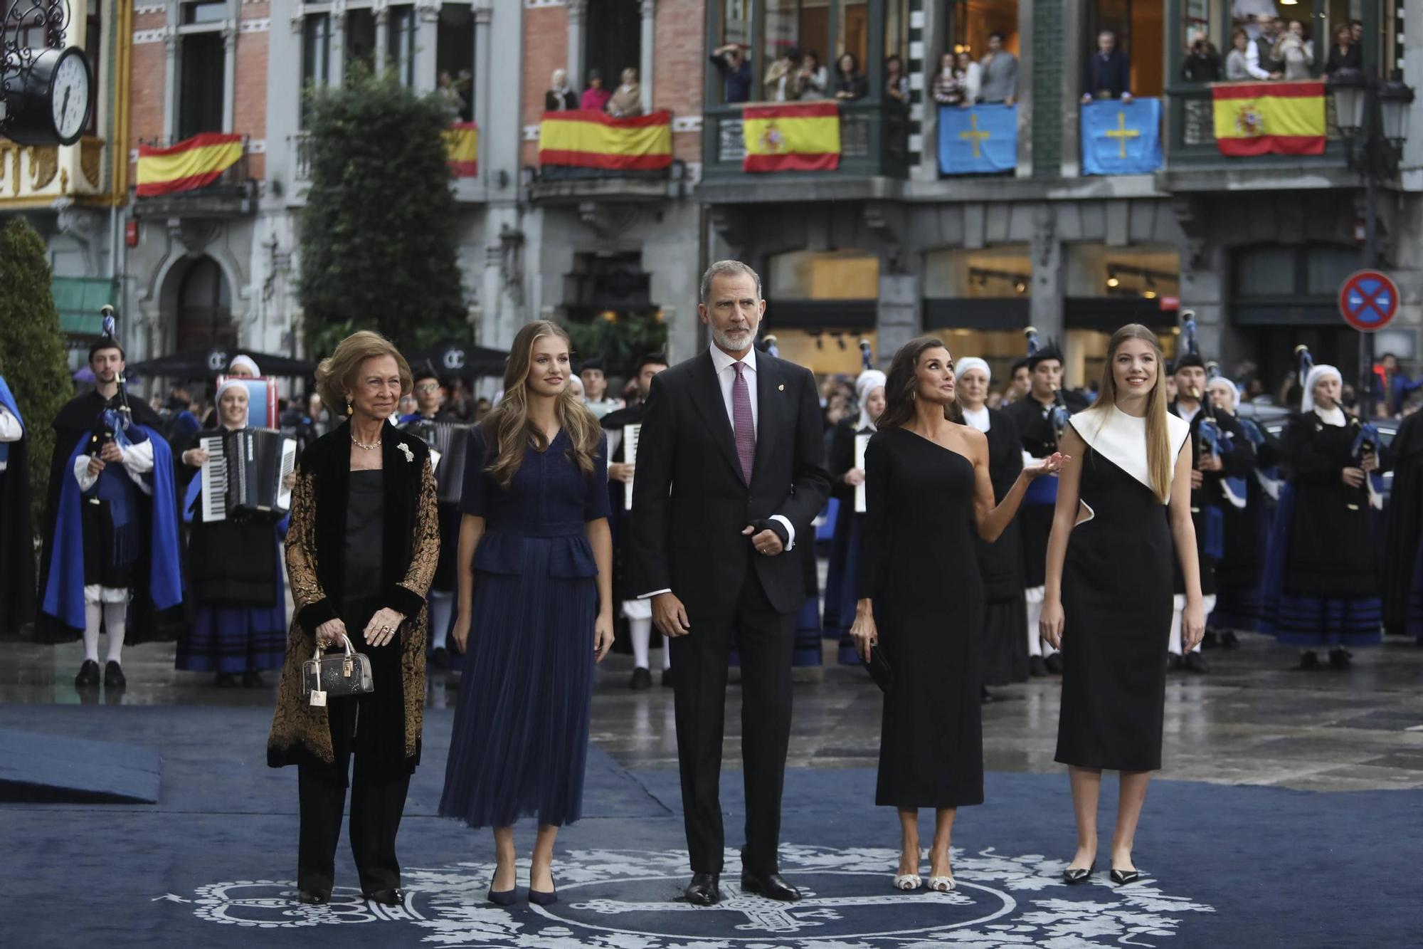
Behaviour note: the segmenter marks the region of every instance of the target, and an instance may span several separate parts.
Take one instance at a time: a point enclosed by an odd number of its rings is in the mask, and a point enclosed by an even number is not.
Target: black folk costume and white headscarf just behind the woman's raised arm
[[[962,376],[979,369],[992,382],[985,361],[969,356],[955,362]],[[993,503],[1002,503],[1023,470],[1023,440],[1006,412],[988,406],[963,410],[963,423],[988,436],[988,470]],[[975,534],[979,574],[983,579],[983,685],[1027,681],[1027,598],[1023,593],[1023,536],[1015,517],[995,543]]]

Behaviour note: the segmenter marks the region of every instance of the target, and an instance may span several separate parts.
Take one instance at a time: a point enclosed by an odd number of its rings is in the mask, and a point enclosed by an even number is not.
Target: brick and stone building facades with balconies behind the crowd
[[[1258,10],[1257,10],[1258,7]],[[1268,9],[1268,10],[1266,10]],[[675,358],[703,339],[696,284],[739,256],[766,281],[767,331],[783,355],[852,372],[857,342],[881,359],[924,331],[995,369],[1022,329],[1059,338],[1069,382],[1100,372],[1127,321],[1173,348],[1191,309],[1202,348],[1227,372],[1258,362],[1274,385],[1295,343],[1353,375],[1358,336],[1335,298],[1362,265],[1363,188],[1331,125],[1318,155],[1228,157],[1214,141],[1211,90],[1188,68],[1197,40],[1231,48],[1245,14],[1299,19],[1313,43],[1359,20],[1362,63],[1423,77],[1423,3],[1302,0],[164,0],[132,9],[127,34],[129,154],[139,141],[199,131],[243,135],[245,160],[213,187],[129,199],[137,224],[120,272],[135,349],[238,342],[295,352],[302,313],[296,221],[305,201],[302,100],[340,83],[353,58],[386,63],[421,90],[454,88],[478,130],[478,174],[453,182],[472,342],[502,348],[532,318],[652,316]],[[1160,103],[1161,160],[1134,174],[1087,174],[1084,73],[1111,30],[1138,101]],[[945,113],[933,100],[943,53],[978,60],[989,33],[1016,57],[1016,152],[995,174],[946,174]],[[845,53],[862,94],[840,101],[831,171],[743,171],[741,104],[709,56],[748,50],[753,98],[790,48],[831,67]],[[885,81],[904,67],[901,94]],[[541,167],[544,94],[556,68],[576,90],[639,71],[646,111],[670,113],[670,168],[566,174]],[[831,80],[834,85],[834,77]],[[831,93],[832,94],[832,93]],[[121,111],[121,110],[114,110]],[[1402,288],[1377,351],[1423,355],[1423,101],[1402,172],[1377,202],[1380,258]],[[976,125],[975,125],[976,128]],[[105,170],[105,174],[110,174]],[[117,172],[115,172],[117,174]],[[132,168],[122,170],[132,178]],[[115,178],[118,180],[118,178]],[[108,178],[104,178],[107,182]],[[108,259],[108,258],[104,258]]]

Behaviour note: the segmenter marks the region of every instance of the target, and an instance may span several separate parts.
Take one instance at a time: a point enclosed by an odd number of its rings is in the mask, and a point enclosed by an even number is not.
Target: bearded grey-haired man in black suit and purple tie
[[[761,281],[721,261],[702,276],[713,345],[652,380],[633,480],[630,570],[672,637],[677,759],[692,883],[720,898],[727,654],[741,657],[746,849],[741,889],[795,901],[777,865],[803,556],[830,476],[815,378],[754,348]]]

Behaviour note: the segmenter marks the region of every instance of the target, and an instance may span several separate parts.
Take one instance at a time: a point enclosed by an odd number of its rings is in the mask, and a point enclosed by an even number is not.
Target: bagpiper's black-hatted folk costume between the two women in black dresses
[[[1047,359],[1062,362],[1062,353],[1054,345],[1036,349],[1027,358],[1027,369],[1032,372],[1037,363]],[[1057,433],[1066,425],[1069,416],[1080,412],[1086,405],[1072,393],[1057,392],[1053,402],[1039,402],[1029,392],[1005,412],[1017,427],[1017,435],[1023,442],[1023,463],[1032,459],[1049,457],[1057,450]],[[1023,587],[1027,598],[1027,661],[1035,675],[1049,671],[1062,671],[1062,658],[1057,650],[1049,645],[1037,630],[1037,621],[1043,616],[1043,597],[1047,583],[1047,536],[1053,531],[1053,510],[1057,506],[1057,476],[1033,479],[1027,493],[1023,496],[1023,506],[1019,509],[1017,520],[1023,531]],[[1036,661],[1035,661],[1036,660]]]

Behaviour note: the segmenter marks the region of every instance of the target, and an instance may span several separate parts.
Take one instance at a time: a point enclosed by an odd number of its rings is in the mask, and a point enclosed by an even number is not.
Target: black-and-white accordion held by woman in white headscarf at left
[[[292,507],[283,483],[296,469],[296,439],[273,429],[242,429],[198,439],[202,466],[202,520],[270,514]]]

